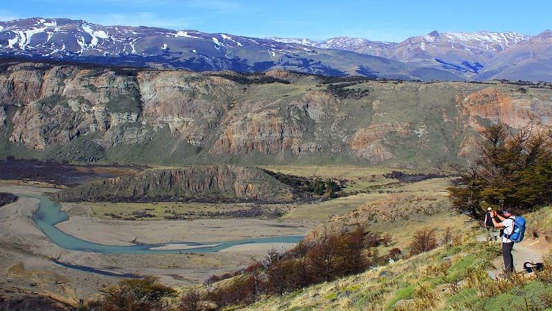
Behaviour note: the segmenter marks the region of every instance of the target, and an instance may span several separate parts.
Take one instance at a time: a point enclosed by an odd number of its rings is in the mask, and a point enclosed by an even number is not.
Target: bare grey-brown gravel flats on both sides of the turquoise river
[[[1,182],[0,191],[41,195],[58,189]],[[224,251],[193,254],[99,254],[68,250],[52,243],[31,220],[38,200],[19,198],[0,209],[0,289],[54,293],[63,297],[88,297],[105,286],[117,283],[119,276],[158,276],[166,285],[179,287],[203,282],[213,274],[246,267],[263,258],[273,247],[293,243],[234,245]],[[66,211],[75,206],[63,204]],[[75,207],[77,211],[78,207]],[[77,238],[100,236],[97,243],[125,245],[162,244],[172,241],[205,241],[219,244],[234,239],[282,234],[304,235],[313,224],[258,219],[209,219],[117,221],[73,214],[57,226]],[[124,238],[121,238],[124,236]],[[52,258],[59,265],[52,261]],[[84,267],[77,270],[75,267]],[[87,271],[88,270],[88,271]],[[98,270],[102,275],[94,273]],[[104,273],[106,272],[106,273]]]

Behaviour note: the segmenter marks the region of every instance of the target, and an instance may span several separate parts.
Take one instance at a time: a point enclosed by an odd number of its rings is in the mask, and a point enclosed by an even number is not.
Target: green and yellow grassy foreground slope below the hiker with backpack
[[[487,271],[499,254],[466,235],[431,252],[244,310],[551,310],[550,268],[532,277],[491,279]]]

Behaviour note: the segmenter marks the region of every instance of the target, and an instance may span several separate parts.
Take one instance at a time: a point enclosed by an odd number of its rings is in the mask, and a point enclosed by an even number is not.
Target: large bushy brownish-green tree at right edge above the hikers
[[[552,132],[511,133],[497,124],[485,129],[482,138],[477,162],[461,171],[457,185],[449,188],[454,207],[482,219],[484,204],[523,213],[552,202]]]

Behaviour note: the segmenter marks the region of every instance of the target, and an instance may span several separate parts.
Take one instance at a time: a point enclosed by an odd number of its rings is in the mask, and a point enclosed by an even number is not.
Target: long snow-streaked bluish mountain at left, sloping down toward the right
[[[0,55],[199,71],[284,68],[322,75],[418,78],[400,62],[292,41],[197,30],[101,26],[71,19],[0,22]]]

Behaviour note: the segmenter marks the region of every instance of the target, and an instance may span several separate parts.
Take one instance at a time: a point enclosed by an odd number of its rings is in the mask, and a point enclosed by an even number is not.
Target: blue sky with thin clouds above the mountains
[[[364,37],[402,41],[432,30],[552,28],[552,1],[1,0],[0,20],[70,17],[103,25],[158,26],[252,37]]]

